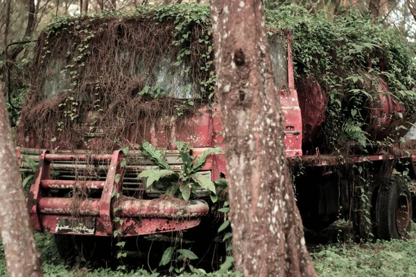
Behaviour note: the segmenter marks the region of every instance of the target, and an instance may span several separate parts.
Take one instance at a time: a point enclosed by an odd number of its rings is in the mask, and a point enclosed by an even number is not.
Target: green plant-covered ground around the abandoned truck
[[[306,231],[309,251],[318,274],[323,276],[416,276],[416,226],[408,240],[392,240],[356,243],[345,235],[345,226],[332,227],[320,234]],[[64,265],[49,234],[35,234],[40,249],[44,276],[163,276],[151,274],[141,268],[128,271],[94,268],[85,265],[70,269]],[[0,246],[0,275],[6,276],[3,246]],[[231,276],[229,274],[184,274],[182,276]]]

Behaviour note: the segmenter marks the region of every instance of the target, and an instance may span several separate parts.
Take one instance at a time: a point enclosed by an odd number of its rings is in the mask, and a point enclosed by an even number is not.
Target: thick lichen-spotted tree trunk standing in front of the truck
[[[284,154],[262,0],[211,0],[236,270],[317,276]]]

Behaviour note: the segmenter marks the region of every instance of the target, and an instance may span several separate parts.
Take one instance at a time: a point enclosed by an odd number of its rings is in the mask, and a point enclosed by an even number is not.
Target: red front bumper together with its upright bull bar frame
[[[35,230],[83,235],[147,235],[198,226],[200,217],[209,213],[207,202],[202,200],[185,202],[167,195],[157,199],[123,195],[123,160],[121,151],[111,155],[92,155],[50,154],[44,150],[38,159],[40,166],[28,195],[28,211]],[[57,161],[58,165],[71,161],[75,165],[95,163],[105,166],[105,179],[51,180],[51,164]],[[92,190],[99,197],[59,194],[73,188]]]

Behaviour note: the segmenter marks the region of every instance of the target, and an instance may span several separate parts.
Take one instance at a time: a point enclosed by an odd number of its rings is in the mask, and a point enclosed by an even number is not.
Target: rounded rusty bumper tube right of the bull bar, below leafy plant
[[[117,204],[123,217],[189,218],[207,215],[209,206],[202,200],[123,199]]]

